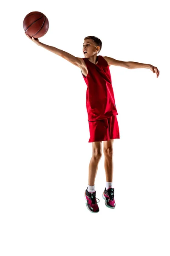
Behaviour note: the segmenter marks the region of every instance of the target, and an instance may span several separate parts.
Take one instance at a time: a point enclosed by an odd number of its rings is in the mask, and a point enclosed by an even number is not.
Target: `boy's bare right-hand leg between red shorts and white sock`
[[[113,181],[113,141],[103,141],[103,153],[105,155],[106,182]]]

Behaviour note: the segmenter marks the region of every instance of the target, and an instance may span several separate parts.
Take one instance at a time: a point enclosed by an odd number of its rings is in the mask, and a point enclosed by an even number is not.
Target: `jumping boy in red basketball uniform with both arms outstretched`
[[[26,33],[25,33],[26,34]],[[27,35],[27,34],[26,34]],[[84,39],[84,58],[77,58],[68,52],[55,47],[42,44],[38,39],[27,35],[35,44],[54,52],[65,58],[75,66],[79,67],[82,76],[87,84],[86,108],[88,112],[88,122],[90,130],[89,142],[92,143],[93,154],[89,164],[88,187],[85,191],[86,206],[90,212],[99,212],[96,201],[95,177],[99,160],[103,152],[105,155],[106,187],[102,194],[105,205],[115,208],[114,188],[113,188],[113,141],[119,139],[119,125],[117,122],[117,110],[114,99],[113,87],[111,84],[111,65],[134,68],[149,68],[159,76],[159,70],[150,64],[142,64],[132,61],[118,61],[110,57],[103,57],[97,54],[102,49],[102,42],[99,38],[89,36]]]

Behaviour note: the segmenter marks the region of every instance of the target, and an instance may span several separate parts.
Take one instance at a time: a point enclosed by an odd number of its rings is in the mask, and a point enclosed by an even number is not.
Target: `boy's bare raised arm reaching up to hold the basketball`
[[[26,33],[25,33],[26,34]],[[26,34],[27,35],[27,34]],[[56,47],[47,45],[47,44],[42,44],[38,38],[34,38],[34,37],[30,37],[29,35],[27,35],[28,38],[30,38],[35,44],[47,49],[48,51],[54,52],[55,54],[59,55],[62,58],[65,58],[65,60],[71,62],[72,64],[74,64],[75,66],[82,68],[84,66],[83,64],[83,59],[82,58],[78,58],[75,57],[74,55],[71,55],[68,52],[65,52],[63,50],[57,49]]]

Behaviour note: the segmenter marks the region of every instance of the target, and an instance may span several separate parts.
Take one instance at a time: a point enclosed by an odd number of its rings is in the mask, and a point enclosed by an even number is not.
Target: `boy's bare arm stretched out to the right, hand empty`
[[[111,57],[103,57],[107,62],[108,65],[114,65],[114,66],[119,66],[119,67],[126,67],[129,69],[134,69],[134,68],[149,68],[152,70],[153,73],[156,73],[157,78],[159,77],[159,70],[157,67],[154,67],[151,64],[143,64],[139,62],[133,62],[133,61],[118,61],[115,60]]]

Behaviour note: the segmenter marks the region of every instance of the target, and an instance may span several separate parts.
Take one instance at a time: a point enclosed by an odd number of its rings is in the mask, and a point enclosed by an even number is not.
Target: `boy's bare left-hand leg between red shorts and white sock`
[[[92,142],[92,157],[89,164],[88,185],[94,186],[99,160],[102,157],[102,141]]]

